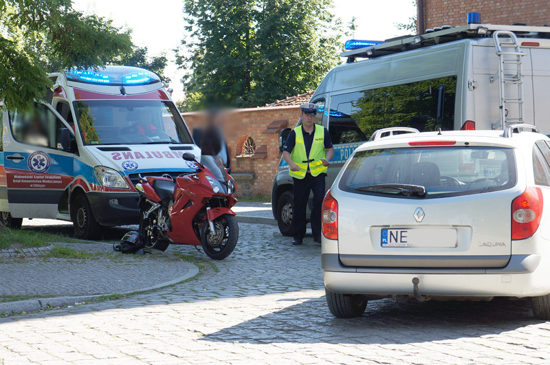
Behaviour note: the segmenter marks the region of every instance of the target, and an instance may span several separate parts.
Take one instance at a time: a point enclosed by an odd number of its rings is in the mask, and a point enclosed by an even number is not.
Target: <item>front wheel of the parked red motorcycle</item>
[[[233,252],[239,239],[239,224],[231,214],[223,214],[214,219],[214,232],[210,225],[204,224],[201,234],[201,244],[204,253],[214,260],[223,260]]]

